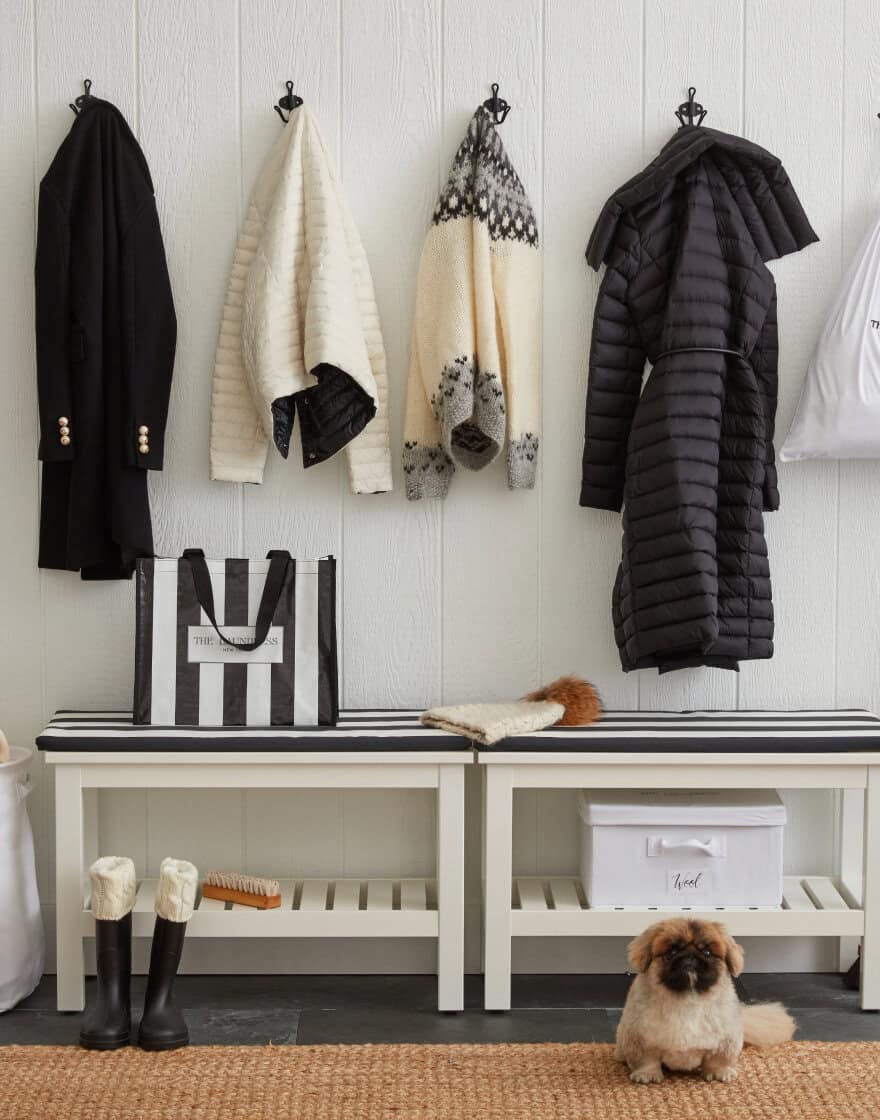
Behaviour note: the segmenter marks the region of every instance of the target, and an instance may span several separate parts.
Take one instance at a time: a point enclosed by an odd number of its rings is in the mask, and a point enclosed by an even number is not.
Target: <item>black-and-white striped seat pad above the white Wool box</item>
[[[880,717],[841,711],[607,711],[590,727],[550,727],[480,747],[535,752],[880,750]]]

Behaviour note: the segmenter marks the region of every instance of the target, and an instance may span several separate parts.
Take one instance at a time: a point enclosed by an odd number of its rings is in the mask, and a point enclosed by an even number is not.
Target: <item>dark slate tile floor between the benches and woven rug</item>
[[[196,1045],[611,1042],[628,983],[625,976],[519,976],[514,1009],[499,1014],[481,1010],[483,981],[468,977],[460,1015],[434,1010],[433,977],[181,977],[177,995]],[[135,977],[135,1021],[143,987]],[[860,1011],[836,974],[752,973],[740,995],[781,1000],[801,1038],[880,1040],[880,1015]],[[0,1015],[0,1045],[75,1043],[81,1018],[55,1010],[55,978],[46,977]]]

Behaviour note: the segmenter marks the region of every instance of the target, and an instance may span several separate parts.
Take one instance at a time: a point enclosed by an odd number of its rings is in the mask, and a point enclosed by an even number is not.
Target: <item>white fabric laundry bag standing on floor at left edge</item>
[[[29,996],[43,976],[45,935],[28,820],[32,752],[10,747],[0,763],[0,1011]]]

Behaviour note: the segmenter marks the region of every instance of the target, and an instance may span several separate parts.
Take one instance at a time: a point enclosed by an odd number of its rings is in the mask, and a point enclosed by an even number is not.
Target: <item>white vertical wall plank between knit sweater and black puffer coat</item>
[[[547,681],[582,673],[609,706],[636,708],[638,674],[620,671],[611,628],[620,515],[578,505],[599,288],[584,251],[608,195],[642,166],[642,8],[621,6],[614,20],[606,10],[546,9],[541,668]]]

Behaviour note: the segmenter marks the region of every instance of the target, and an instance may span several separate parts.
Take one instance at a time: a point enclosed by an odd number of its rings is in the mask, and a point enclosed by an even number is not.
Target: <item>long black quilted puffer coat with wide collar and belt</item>
[[[816,241],[779,160],[685,125],[606,203],[581,505],[624,507],[625,670],[773,656],[762,511],[776,510],[776,286]],[[652,365],[643,389],[645,362]]]

